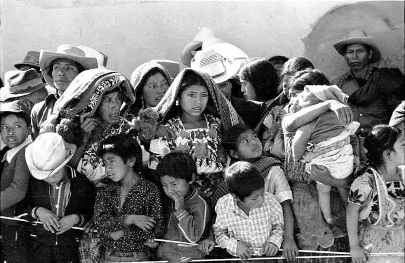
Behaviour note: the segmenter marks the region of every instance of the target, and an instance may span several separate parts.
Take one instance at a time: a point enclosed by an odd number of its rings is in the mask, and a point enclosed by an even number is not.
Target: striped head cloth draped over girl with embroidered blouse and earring
[[[156,106],[156,110],[159,113],[160,121],[166,122],[168,119],[175,117],[180,106],[175,106],[177,97],[180,96],[179,91],[183,77],[187,72],[194,72],[199,75],[205,81],[210,100],[208,101],[207,108],[204,113],[212,114],[221,119],[221,123],[224,129],[227,129],[237,123],[243,123],[242,119],[236,113],[231,103],[225,98],[221,91],[215,85],[214,80],[207,73],[186,68],[183,69],[177,77],[173,80],[172,85],[166,92],[165,96],[161,99]]]

